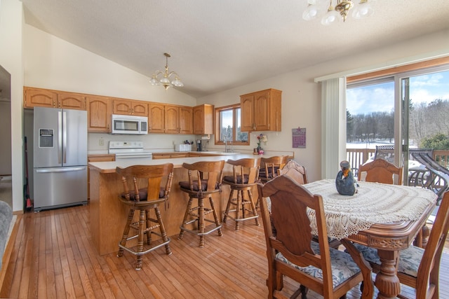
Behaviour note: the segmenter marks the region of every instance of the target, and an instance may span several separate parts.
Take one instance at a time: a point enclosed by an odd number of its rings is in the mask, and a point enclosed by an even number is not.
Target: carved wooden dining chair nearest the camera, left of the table
[[[341,298],[363,280],[349,253],[329,247],[320,195],[312,195],[288,176],[277,176],[258,188],[267,243],[269,298],[290,297],[283,291],[284,275],[300,283],[292,298],[300,294],[306,298],[308,289],[324,298]],[[271,217],[267,197],[272,202]],[[312,241],[308,209],[316,215],[318,243]]]

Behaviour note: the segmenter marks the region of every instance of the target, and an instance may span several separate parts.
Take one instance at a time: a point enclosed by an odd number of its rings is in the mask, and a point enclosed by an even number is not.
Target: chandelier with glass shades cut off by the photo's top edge
[[[356,19],[366,18],[370,15],[373,15],[373,8],[368,3],[368,0],[360,0],[358,5],[354,5],[354,1],[351,0],[328,0],[329,6],[327,13],[321,19],[321,24],[330,25],[335,22],[340,22],[341,20],[346,21],[348,17],[349,11],[354,7],[352,11],[352,17]],[[302,13],[302,18],[304,20],[314,20],[322,10],[320,7],[320,3],[323,2],[321,0],[308,0],[308,6]],[[326,1],[327,2],[327,1]],[[336,5],[333,6],[333,2],[336,2]]]

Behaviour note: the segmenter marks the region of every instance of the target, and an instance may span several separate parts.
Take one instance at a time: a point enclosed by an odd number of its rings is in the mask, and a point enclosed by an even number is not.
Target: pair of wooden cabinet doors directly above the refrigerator
[[[41,88],[23,88],[25,108],[48,107],[86,110],[86,95]]]

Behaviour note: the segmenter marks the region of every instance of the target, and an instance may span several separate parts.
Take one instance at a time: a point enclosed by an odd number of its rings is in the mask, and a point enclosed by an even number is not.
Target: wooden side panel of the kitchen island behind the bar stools
[[[217,157],[215,157],[217,158]],[[187,158],[189,159],[189,158]],[[170,160],[158,160],[170,162]],[[186,161],[187,162],[187,161]],[[100,255],[118,251],[119,242],[123,235],[123,228],[128,217],[128,207],[122,204],[118,195],[123,192],[122,183],[115,172],[102,172],[96,167],[91,169],[91,236],[95,248]],[[232,167],[225,163],[224,175],[232,175]],[[180,225],[187,208],[188,195],[180,190],[179,182],[187,181],[187,170],[175,165],[173,169],[173,184],[170,190],[168,209],[161,205],[161,215],[166,232],[173,241],[177,241],[177,235],[180,233]],[[257,198],[257,188],[253,188],[253,196]],[[226,209],[229,197],[229,186],[223,185],[222,192],[214,195],[215,209],[222,220],[223,211]],[[209,207],[209,201],[204,201],[206,207]],[[195,201],[194,204],[197,202]],[[138,213],[135,213],[135,221],[138,221]],[[152,211],[154,216],[154,211]],[[213,219],[212,214],[207,216]],[[130,231],[131,233],[131,231]],[[133,240],[134,241],[134,240]],[[129,241],[131,242],[131,241]],[[129,243],[128,243],[129,244]],[[132,244],[132,243],[131,243]]]

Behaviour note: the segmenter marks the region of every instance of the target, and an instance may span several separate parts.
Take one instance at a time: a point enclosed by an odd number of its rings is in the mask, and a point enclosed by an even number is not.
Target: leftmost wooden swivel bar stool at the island
[[[119,242],[119,253],[123,256],[126,250],[137,256],[136,270],[142,267],[142,255],[149,253],[161,246],[166,247],[166,253],[171,254],[166,230],[162,223],[160,204],[168,203],[171,183],[173,180],[173,164],[163,165],[135,165],[126,168],[116,167],[116,173],[121,175],[123,182],[123,193],[119,195],[119,200],[129,207],[128,220],[126,221],[123,237]],[[156,219],[150,216],[150,210],[154,209]],[[133,222],[134,211],[140,211],[139,221]],[[155,223],[152,225],[152,223]],[[137,230],[137,235],[128,237],[130,228]],[[159,229],[159,232],[154,230]],[[151,244],[151,235],[157,235],[161,239],[155,240]],[[147,235],[147,244],[144,246],[144,235]],[[136,246],[126,246],[130,239],[137,238]],[[145,247],[145,248],[144,248]]]

